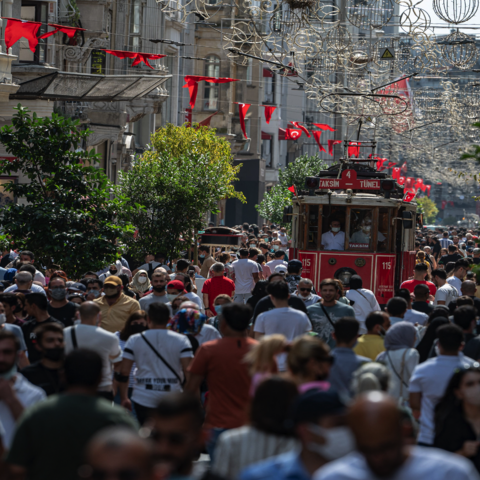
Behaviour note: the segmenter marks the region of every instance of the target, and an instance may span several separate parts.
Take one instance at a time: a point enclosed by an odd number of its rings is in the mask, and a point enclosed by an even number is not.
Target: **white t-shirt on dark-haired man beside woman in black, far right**
[[[408,391],[422,394],[418,442],[433,445],[435,406],[443,397],[455,370],[458,367],[472,365],[473,363],[475,363],[474,360],[459,353],[457,356],[439,355],[430,358],[415,368]]]

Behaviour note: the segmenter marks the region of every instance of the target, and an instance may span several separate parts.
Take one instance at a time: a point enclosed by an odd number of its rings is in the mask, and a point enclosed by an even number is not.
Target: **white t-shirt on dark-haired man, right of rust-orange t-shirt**
[[[254,327],[254,332],[264,333],[265,335],[281,333],[289,341],[310,330],[312,330],[312,324],[307,314],[291,307],[274,308],[261,313],[255,320]],[[280,372],[286,371],[286,360],[287,355],[285,353],[277,355]]]

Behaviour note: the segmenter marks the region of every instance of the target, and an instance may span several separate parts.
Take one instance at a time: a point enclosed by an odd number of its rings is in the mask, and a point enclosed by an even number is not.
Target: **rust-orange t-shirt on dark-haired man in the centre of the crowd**
[[[250,337],[228,337],[197,350],[189,371],[208,384],[206,428],[238,428],[247,422],[251,379],[243,358],[256,343]]]

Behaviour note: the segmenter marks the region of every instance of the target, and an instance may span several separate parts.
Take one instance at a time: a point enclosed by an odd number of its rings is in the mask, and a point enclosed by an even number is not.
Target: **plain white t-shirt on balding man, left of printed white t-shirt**
[[[73,328],[77,337],[77,348],[88,348],[102,357],[102,380],[98,388],[99,390],[108,390],[112,385],[112,363],[122,361],[122,350],[118,343],[118,337],[114,333],[93,325],[80,324],[68,327],[63,331],[66,354],[74,350],[71,332]]]

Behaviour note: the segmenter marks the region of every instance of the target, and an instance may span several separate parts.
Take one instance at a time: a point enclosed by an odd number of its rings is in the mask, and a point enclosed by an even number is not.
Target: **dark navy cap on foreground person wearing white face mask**
[[[316,422],[326,415],[338,415],[345,413],[345,403],[340,399],[337,392],[329,390],[308,390],[297,397],[293,404],[293,420],[297,423]]]

